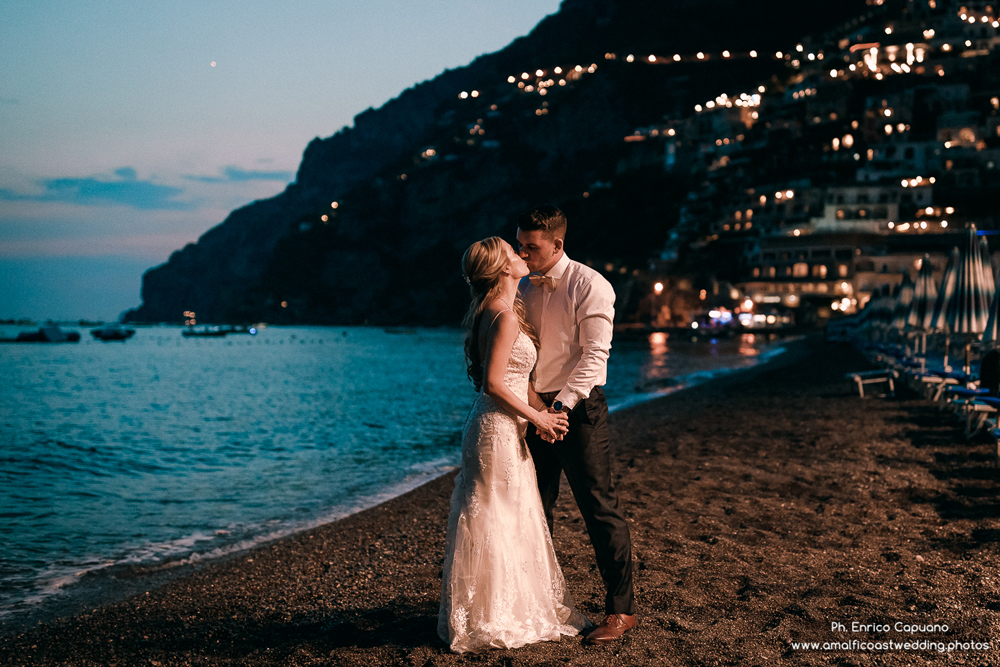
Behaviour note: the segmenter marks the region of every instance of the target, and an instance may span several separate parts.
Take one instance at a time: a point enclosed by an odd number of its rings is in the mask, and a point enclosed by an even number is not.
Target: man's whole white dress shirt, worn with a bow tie
[[[525,319],[540,348],[532,375],[535,391],[559,392],[572,409],[608,379],[615,291],[604,276],[565,254],[545,274],[549,284],[521,280]]]

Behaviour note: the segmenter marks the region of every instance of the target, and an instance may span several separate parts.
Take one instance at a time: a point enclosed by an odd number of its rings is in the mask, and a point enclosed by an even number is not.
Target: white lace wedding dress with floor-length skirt
[[[519,333],[504,379],[525,402],[534,365]],[[587,624],[556,561],[526,426],[482,392],[465,423],[438,613],[438,635],[459,653],[558,640]]]

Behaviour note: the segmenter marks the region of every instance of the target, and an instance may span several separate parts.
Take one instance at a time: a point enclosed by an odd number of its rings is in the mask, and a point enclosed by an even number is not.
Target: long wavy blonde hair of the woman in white
[[[462,272],[472,292],[472,303],[462,323],[465,327],[465,365],[469,379],[479,391],[483,386],[483,363],[479,350],[479,322],[486,310],[486,304],[500,297],[503,270],[508,266],[504,241],[499,236],[491,236],[476,241],[462,256]],[[531,325],[524,319],[524,303],[516,296],[513,303],[518,326],[527,334],[532,344],[538,347],[538,337]]]

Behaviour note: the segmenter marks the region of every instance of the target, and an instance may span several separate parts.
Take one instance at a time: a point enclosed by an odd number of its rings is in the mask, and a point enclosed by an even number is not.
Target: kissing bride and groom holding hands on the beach
[[[580,634],[607,643],[636,625],[601,388],[615,294],[566,255],[566,227],[559,209],[541,206],[518,219],[517,252],[491,237],[462,259],[472,293],[465,356],[479,393],[462,432],[438,614],[455,652]],[[574,608],[552,544],[563,472],[607,590],[596,627]]]

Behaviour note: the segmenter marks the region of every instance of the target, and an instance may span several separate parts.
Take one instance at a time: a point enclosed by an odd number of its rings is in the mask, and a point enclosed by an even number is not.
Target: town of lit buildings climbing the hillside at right
[[[996,233],[985,195],[1000,162],[998,13],[921,0],[903,15],[872,14],[796,44],[773,55],[787,63],[786,80],[720,92],[686,118],[625,137],[665,170],[703,179],[654,271],[669,275],[692,253],[730,257],[722,292],[737,313],[754,313],[745,325],[822,322],[915,274],[925,255],[940,278],[967,225]],[[795,159],[808,168],[761,178],[791,151],[805,151]],[[654,321],[690,324],[661,308]]]

